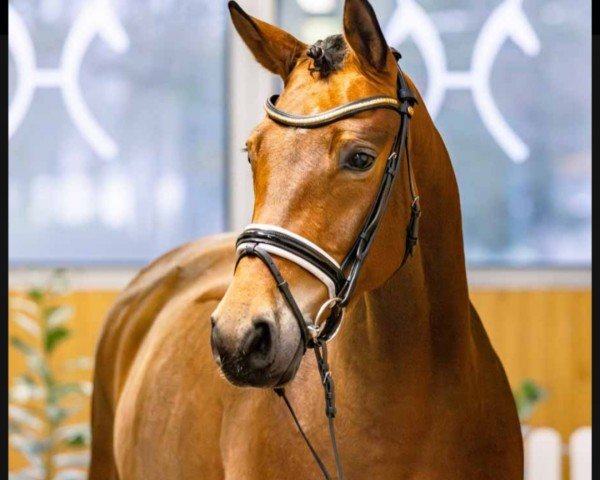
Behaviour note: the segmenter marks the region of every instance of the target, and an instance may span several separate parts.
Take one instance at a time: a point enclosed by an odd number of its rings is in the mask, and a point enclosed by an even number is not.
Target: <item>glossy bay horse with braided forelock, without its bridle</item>
[[[257,61],[283,79],[276,109],[290,118],[397,97],[397,58],[366,0],[346,0],[343,35],[312,46],[235,2],[229,10]],[[405,82],[416,102],[400,154],[412,169],[398,170],[328,347],[344,478],[521,479],[515,403],[469,300],[450,158]],[[318,128],[282,124],[267,111],[246,144],[253,224],[288,232],[339,264],[364,231],[406,111],[355,111]],[[420,240],[404,262],[413,188]],[[283,387],[333,471],[324,382],[316,359],[303,355],[298,320],[318,316],[328,288],[283,254],[267,255],[272,265],[256,251],[239,256],[235,238],[163,255],[110,310],[96,351],[91,480],[322,478],[272,391]]]

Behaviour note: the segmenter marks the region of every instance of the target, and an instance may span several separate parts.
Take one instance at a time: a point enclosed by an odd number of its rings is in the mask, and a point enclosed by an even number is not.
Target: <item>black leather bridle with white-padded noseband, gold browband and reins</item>
[[[392,53],[398,61],[400,54],[392,49]],[[278,95],[267,99],[265,110],[269,118],[280,125],[300,128],[319,128],[344,118],[356,115],[359,112],[374,109],[390,109],[400,115],[400,128],[394,139],[394,144],[386,161],[385,171],[377,196],[366,218],[364,226],[358,234],[354,245],[340,265],[325,250],[315,245],[308,239],[275,225],[251,224],[248,225],[238,237],[237,262],[246,256],[259,258],[269,269],[277,283],[277,288],[283,295],[286,303],[296,319],[302,336],[304,352],[312,348],[315,352],[319,374],[325,392],[325,414],[329,420],[329,432],[334,454],[338,478],[343,479],[341,463],[337,450],[335,429],[333,419],[336,414],[334,385],[327,361],[327,342],[330,341],[340,329],[344,309],[348,306],[356,287],[361,267],[369,253],[375,234],[379,228],[381,218],[389,201],[394,179],[400,171],[402,150],[406,153],[407,176],[411,194],[410,221],[406,228],[406,248],[401,267],[412,255],[417,244],[419,217],[419,197],[415,193],[410,156],[407,145],[408,123],[413,114],[413,106],[417,99],[408,87],[398,65],[397,76],[397,98],[388,96],[372,96],[356,100],[342,106],[327,110],[314,115],[293,115],[283,112],[276,107]],[[285,258],[296,263],[327,287],[329,298],[319,309],[314,321],[306,318],[296,300],[294,299],[289,285],[281,275],[271,255]],[[296,414],[285,396],[282,387],[275,388],[275,392],[283,398],[288,407],[300,434],[304,438],[315,461],[323,472],[326,479],[331,476],[324,463],[313,448],[308,437],[304,433]]]

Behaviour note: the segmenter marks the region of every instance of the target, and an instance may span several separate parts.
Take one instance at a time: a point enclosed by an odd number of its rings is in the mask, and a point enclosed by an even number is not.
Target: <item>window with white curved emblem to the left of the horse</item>
[[[11,264],[226,228],[226,2],[10,2]]]

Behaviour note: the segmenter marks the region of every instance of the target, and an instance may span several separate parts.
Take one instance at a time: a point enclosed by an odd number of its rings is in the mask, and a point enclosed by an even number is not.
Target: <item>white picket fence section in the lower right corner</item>
[[[525,480],[563,479],[563,461],[568,455],[569,480],[592,478],[592,429],[581,427],[563,445],[553,428],[533,428],[525,432]]]

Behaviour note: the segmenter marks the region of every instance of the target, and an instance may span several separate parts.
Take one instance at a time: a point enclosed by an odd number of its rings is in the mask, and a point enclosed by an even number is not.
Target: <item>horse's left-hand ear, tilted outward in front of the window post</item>
[[[280,28],[251,17],[234,1],[228,6],[235,29],[258,63],[285,81],[307,45]]]

